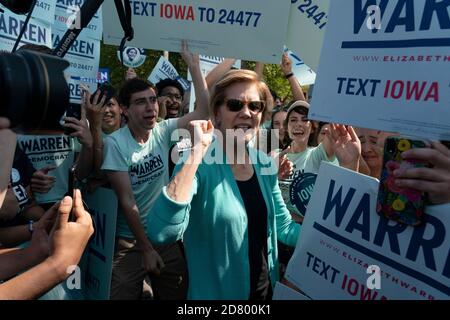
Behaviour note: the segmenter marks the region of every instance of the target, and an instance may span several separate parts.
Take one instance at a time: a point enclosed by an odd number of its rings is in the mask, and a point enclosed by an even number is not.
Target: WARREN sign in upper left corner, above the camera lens
[[[0,12],[0,50],[11,52],[25,23],[25,16],[17,15],[5,9]],[[24,44],[40,44],[52,48],[51,25],[31,18],[25,29],[18,48]]]

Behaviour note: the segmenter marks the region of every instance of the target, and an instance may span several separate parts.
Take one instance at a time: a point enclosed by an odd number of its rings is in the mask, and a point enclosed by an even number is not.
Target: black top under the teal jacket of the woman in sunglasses
[[[267,207],[258,178],[236,181],[248,219],[248,257],[250,262],[250,300],[272,297],[267,265]]]

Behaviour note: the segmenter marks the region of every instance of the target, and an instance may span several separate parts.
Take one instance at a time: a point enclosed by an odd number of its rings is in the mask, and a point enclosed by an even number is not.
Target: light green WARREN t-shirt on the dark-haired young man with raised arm
[[[144,230],[153,203],[169,183],[170,138],[176,126],[177,119],[158,122],[145,144],[136,142],[128,126],[104,139],[102,170],[128,172]],[[121,208],[117,215],[116,235],[134,238]]]

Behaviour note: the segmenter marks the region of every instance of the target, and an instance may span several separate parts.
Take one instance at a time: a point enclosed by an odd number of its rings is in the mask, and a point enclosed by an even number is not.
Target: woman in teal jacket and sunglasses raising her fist
[[[149,214],[152,242],[184,240],[189,299],[270,299],[277,239],[297,242],[300,225],[286,210],[276,165],[246,146],[272,104],[256,73],[228,72],[211,96],[215,138],[211,122],[190,124],[193,148]]]

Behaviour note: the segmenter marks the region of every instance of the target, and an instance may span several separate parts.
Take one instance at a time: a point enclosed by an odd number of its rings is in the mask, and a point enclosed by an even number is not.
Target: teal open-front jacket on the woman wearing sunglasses
[[[283,202],[273,160],[253,148],[248,152],[267,207],[267,262],[274,286],[279,278],[277,239],[295,246],[300,225],[291,219]],[[223,164],[211,164],[212,158],[222,159]],[[148,215],[147,234],[152,243],[184,241],[188,299],[249,298],[247,214],[225,162],[222,147],[213,141],[196,172],[189,201],[173,201],[164,187]],[[178,165],[174,175],[180,169]]]

